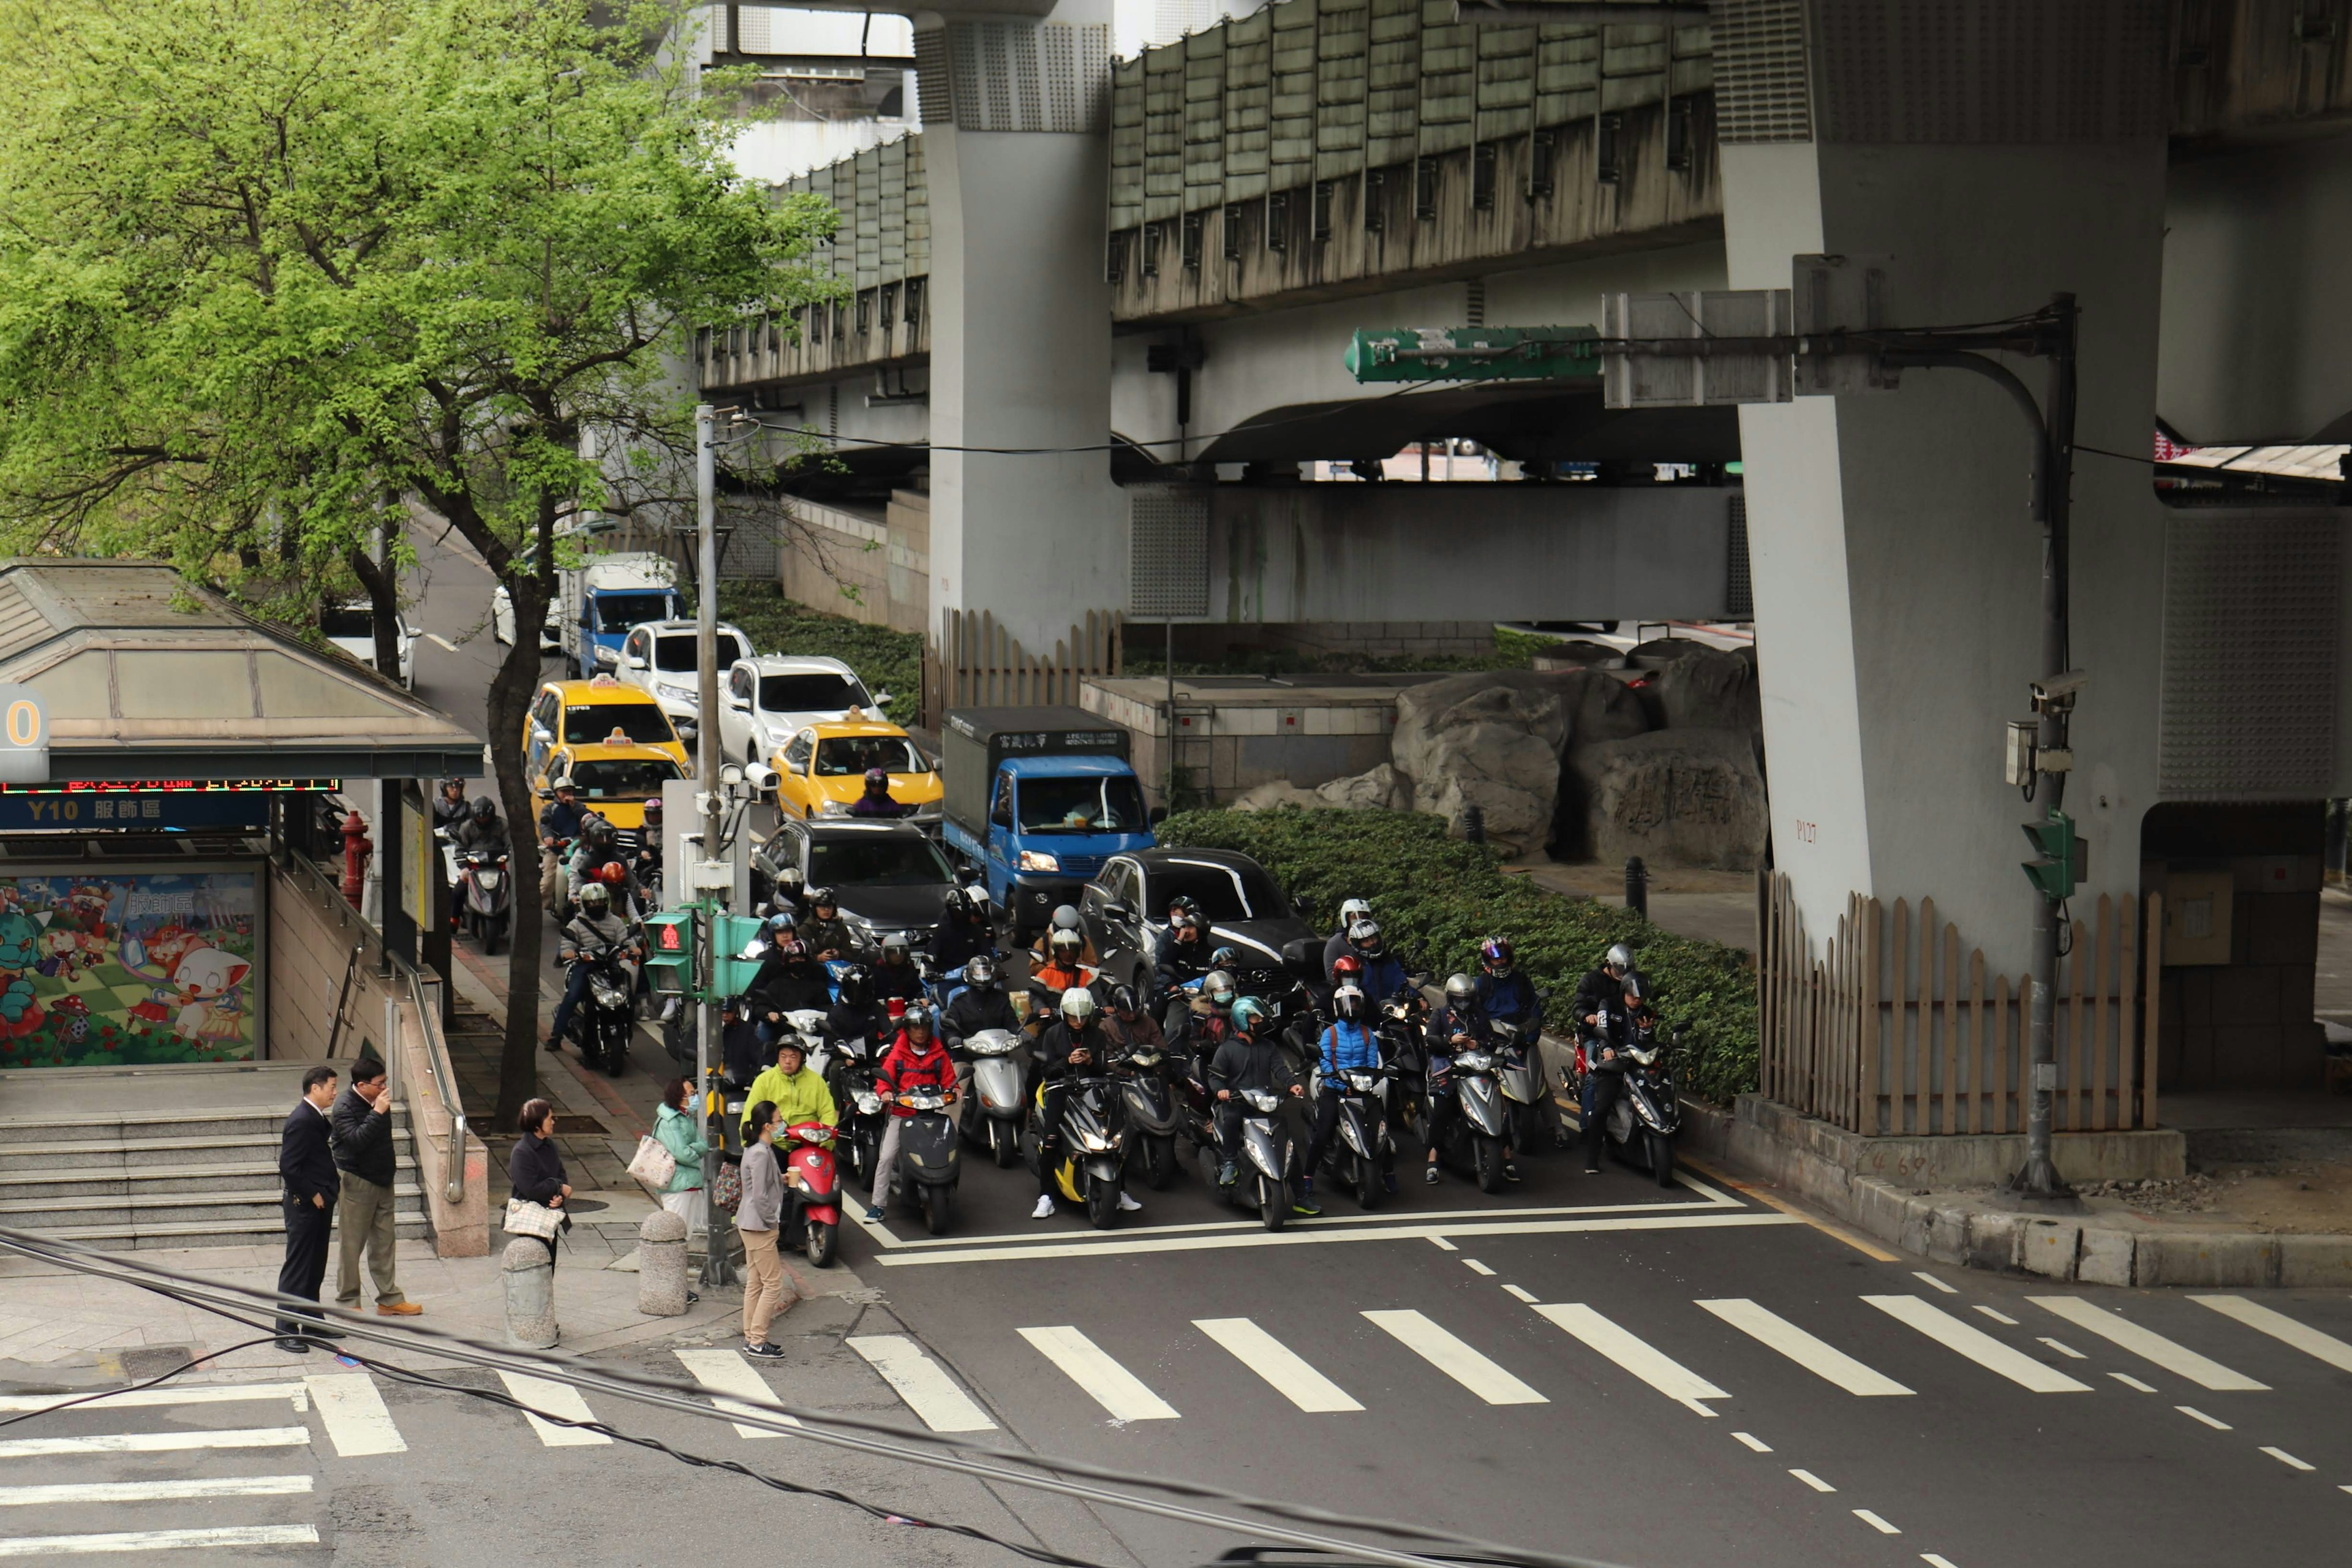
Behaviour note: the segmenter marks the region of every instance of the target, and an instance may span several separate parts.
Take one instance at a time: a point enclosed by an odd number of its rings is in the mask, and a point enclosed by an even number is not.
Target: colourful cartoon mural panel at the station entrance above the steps
[[[252,1060],[254,882],[0,877],[0,1067]]]

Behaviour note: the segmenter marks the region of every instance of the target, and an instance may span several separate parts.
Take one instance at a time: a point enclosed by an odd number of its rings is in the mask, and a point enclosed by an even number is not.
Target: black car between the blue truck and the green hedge
[[[1141,849],[1112,856],[1080,896],[1087,936],[1115,985],[1145,990],[1169,905],[1178,896],[1200,905],[1209,947],[1232,947],[1242,971],[1279,971],[1284,945],[1322,938],[1298,919],[1265,867],[1230,849]]]

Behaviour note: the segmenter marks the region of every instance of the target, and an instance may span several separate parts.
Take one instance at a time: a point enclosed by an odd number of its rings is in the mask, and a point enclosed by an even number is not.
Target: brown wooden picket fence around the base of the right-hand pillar
[[[2023,1133],[2030,978],[1987,976],[1936,900],[1853,896],[1813,957],[1788,877],[1766,872],[1764,1095],[1860,1133]],[[2157,1124],[2161,898],[2100,896],[2058,959],[2058,1131]],[[2154,938],[2154,940],[2152,940]]]

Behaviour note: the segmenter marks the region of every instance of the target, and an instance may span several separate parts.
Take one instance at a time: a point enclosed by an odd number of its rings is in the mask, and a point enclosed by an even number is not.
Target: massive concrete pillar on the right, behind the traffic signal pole
[[[1740,7],[1771,47],[1717,56],[1733,289],[1790,256],[1879,254],[1903,327],[2082,308],[2074,717],[2065,806],[2091,884],[2136,891],[2157,792],[2164,512],[2150,470],[2164,242],[2164,7],[1950,0]],[[1722,33],[1717,33],[1722,38]],[[2044,369],[2013,369],[2037,395]],[[1987,966],[2027,966],[2030,891],[2002,722],[2039,675],[2030,435],[1999,388],[1740,411],[1778,867],[1813,933],[1851,893],[1922,896]],[[2077,905],[2077,912],[2084,905]]]

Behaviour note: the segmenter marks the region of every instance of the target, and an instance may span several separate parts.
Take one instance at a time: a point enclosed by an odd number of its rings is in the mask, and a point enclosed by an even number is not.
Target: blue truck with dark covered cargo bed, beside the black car
[[[1157,813],[1129,736],[1082,708],[955,708],[938,731],[948,846],[1028,940],[1110,856],[1150,849]]]

